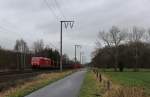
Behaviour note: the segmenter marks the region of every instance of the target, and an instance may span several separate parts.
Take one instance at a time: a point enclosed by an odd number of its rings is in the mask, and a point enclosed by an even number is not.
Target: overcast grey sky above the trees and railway
[[[23,38],[31,47],[43,39],[59,48],[60,20],[74,20],[63,30],[63,52],[74,56],[74,44],[83,45],[86,60],[94,50],[97,33],[112,25],[149,27],[150,0],[0,0],[0,45],[12,49]],[[55,14],[54,14],[55,13]]]

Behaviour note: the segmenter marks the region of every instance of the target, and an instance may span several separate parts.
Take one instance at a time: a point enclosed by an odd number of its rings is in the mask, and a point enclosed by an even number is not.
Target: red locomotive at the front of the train
[[[31,59],[32,68],[55,68],[54,61],[50,58],[45,57],[32,57]]]

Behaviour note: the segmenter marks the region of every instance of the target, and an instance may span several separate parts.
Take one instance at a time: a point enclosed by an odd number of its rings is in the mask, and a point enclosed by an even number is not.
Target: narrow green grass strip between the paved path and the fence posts
[[[88,71],[81,87],[79,97],[100,97],[100,90],[100,84],[94,73]]]

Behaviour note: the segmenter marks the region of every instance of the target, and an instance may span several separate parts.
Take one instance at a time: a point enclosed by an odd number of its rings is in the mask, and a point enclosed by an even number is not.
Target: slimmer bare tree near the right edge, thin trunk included
[[[138,43],[142,41],[142,37],[145,33],[144,28],[138,28],[134,26],[129,33],[129,42],[130,43],[135,43],[135,67],[134,71],[138,71]]]

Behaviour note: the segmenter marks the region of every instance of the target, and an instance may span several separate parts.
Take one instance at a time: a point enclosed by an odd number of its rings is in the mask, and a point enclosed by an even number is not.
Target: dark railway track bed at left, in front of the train
[[[27,70],[27,71],[13,71],[0,73],[0,92],[11,86],[15,86],[19,80],[31,79],[42,73],[57,72],[57,70]]]

